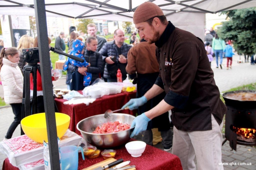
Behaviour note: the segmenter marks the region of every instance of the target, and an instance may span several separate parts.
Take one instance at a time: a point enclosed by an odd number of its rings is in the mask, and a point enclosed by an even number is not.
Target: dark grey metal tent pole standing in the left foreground
[[[43,86],[44,110],[46,112],[46,126],[50,154],[51,169],[60,170],[57,129],[54,110],[54,98],[50,69],[50,55],[46,23],[46,8],[44,0],[34,0],[36,13],[39,60]]]

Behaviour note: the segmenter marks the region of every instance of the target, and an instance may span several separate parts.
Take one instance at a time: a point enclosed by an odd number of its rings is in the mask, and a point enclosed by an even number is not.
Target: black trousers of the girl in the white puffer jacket
[[[10,104],[12,107],[12,112],[14,113],[14,121],[9,127],[5,138],[10,139],[12,137],[13,132],[17,128],[17,126],[21,122],[21,112],[22,112],[22,103],[12,103]]]

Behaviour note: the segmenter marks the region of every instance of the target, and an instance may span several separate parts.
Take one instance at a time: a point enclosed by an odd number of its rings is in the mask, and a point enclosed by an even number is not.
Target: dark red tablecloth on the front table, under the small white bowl
[[[131,139],[130,141],[134,141]],[[124,146],[113,148],[117,151],[115,159],[123,158],[124,161],[130,160],[129,165],[135,165],[136,170],[182,170],[180,159],[169,152],[162,151],[150,145],[146,145],[146,149],[142,156],[134,158],[126,150]],[[103,151],[103,149],[101,149]],[[91,165],[103,161],[100,155],[98,158],[82,160],[82,155],[79,153],[78,169],[84,169]],[[9,159],[6,158],[3,163],[2,170],[17,170],[18,168],[12,166]]]

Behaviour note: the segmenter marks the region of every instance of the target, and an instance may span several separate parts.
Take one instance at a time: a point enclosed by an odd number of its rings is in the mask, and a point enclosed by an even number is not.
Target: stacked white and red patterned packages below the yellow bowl
[[[60,139],[60,147],[76,146],[80,141],[87,145],[86,141],[84,141],[81,136],[67,130]],[[31,166],[31,163],[32,165],[43,163],[43,143],[34,142],[28,138],[27,135],[21,135],[0,142],[0,151],[7,155],[13,166],[21,168],[21,165],[23,165],[22,169],[25,168],[25,164],[30,164]]]

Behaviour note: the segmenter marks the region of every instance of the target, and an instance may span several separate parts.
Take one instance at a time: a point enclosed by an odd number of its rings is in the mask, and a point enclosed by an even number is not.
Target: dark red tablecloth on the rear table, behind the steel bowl
[[[82,91],[78,91],[82,94]],[[80,131],[76,129],[76,125],[80,120],[97,115],[103,114],[107,109],[112,111],[121,109],[131,98],[136,98],[136,91],[134,92],[121,92],[115,95],[105,95],[101,98],[97,98],[93,103],[88,106],[86,104],[64,104],[66,100],[55,98],[55,103],[60,113],[65,113],[70,116],[69,129],[78,135],[81,135]],[[127,113],[135,115],[136,111],[123,110],[119,113]]]

